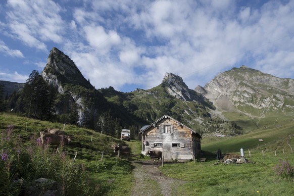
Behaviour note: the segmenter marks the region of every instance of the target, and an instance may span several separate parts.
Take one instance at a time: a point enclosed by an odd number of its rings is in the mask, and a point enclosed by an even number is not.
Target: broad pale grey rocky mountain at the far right
[[[266,117],[293,111],[293,84],[293,79],[282,79],[241,66],[218,74],[201,93],[222,111]],[[198,86],[195,91],[200,92],[200,89]]]

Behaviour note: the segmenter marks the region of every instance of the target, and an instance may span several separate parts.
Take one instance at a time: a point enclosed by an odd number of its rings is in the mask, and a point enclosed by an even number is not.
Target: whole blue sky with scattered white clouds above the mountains
[[[25,82],[53,47],[123,92],[166,72],[194,89],[241,65],[293,79],[293,19],[294,1],[2,0],[0,80]]]

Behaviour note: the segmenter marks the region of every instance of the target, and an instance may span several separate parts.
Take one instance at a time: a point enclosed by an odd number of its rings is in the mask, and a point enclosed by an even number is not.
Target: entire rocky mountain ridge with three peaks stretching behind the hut
[[[54,47],[41,75],[58,90],[57,114],[75,116],[77,111],[77,124],[94,129],[115,129],[109,119],[127,128],[168,114],[194,130],[231,134],[237,126],[230,125],[223,112],[264,118],[273,112],[294,110],[294,80],[246,66],[220,73],[193,90],[180,76],[166,73],[162,83],[152,89],[124,93],[113,87],[95,89],[75,63]]]

